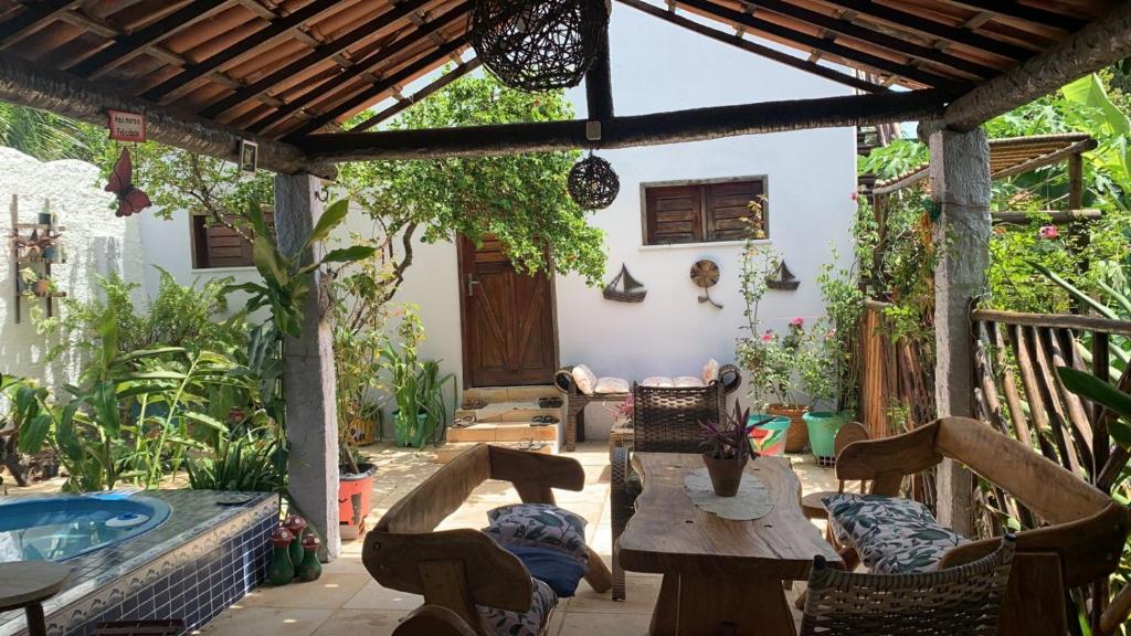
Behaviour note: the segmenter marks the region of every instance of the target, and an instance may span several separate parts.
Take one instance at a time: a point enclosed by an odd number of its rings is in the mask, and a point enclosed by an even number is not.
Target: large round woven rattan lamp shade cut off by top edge
[[[581,83],[608,28],[605,0],[476,0],[472,48],[495,77],[529,92]]]

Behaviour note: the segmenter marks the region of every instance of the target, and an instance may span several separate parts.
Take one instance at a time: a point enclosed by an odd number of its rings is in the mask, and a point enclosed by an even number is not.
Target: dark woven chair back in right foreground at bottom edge
[[[916,574],[854,574],[818,557],[801,636],[993,636],[1016,538],[962,566]]]

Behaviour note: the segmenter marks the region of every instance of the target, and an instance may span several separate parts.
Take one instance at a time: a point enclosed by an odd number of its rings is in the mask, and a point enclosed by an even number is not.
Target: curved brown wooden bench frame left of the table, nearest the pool
[[[478,530],[434,532],[489,479],[511,482],[528,504],[553,504],[553,488],[585,487],[585,471],[576,459],[485,444],[424,480],[381,517],[362,551],[362,562],[378,583],[424,596],[424,605],[402,622],[397,636],[490,636],[476,605],[530,609],[530,574],[518,557]],[[598,592],[612,585],[608,569],[592,549],[585,578]],[[543,631],[549,621],[550,612]]]

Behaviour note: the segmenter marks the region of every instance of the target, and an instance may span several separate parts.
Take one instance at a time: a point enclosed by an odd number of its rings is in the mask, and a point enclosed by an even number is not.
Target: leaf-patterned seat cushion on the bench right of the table
[[[855,548],[873,573],[931,571],[948,550],[968,541],[910,499],[845,492],[823,504],[837,541]]]

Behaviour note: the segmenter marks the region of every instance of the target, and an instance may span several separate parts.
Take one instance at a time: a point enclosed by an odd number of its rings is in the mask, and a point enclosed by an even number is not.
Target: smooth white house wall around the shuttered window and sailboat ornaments
[[[745,51],[710,41],[656,20],[628,7],[614,6],[612,72],[616,114],[631,115],[711,105],[742,104],[844,95],[837,84],[777,65]],[[481,71],[480,71],[481,72]],[[422,83],[428,79],[422,79]],[[584,87],[569,98],[585,114]],[[693,144],[601,152],[620,174],[621,194],[592,217],[607,233],[607,273],[622,263],[649,290],[640,304],[606,301],[576,276],[558,277],[556,311],[562,363],[589,364],[598,375],[641,379],[648,375],[698,373],[709,358],[734,359],[743,306],[739,294],[741,244],[677,247],[641,246],[641,182],[766,175],[769,196],[769,249],[782,252],[801,280],[795,292],[771,291],[763,318],[783,328],[794,317],[822,313],[815,277],[829,260],[829,244],[849,253],[849,223],[855,209],[855,132],[849,128],[733,137]],[[370,222],[354,215],[349,226],[369,231]],[[191,270],[188,220],[141,221],[146,263],[159,264],[182,282]],[[711,295],[715,309],[696,301],[689,281],[691,264],[711,258],[722,269]],[[253,270],[221,270],[238,278]],[[155,282],[147,273],[147,283]],[[457,251],[454,243],[416,244],[396,300],[421,306],[428,341],[424,358],[442,359],[442,368],[461,378]],[[607,426],[599,410],[589,414],[599,436]]]

